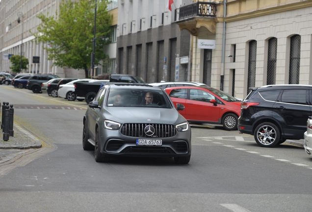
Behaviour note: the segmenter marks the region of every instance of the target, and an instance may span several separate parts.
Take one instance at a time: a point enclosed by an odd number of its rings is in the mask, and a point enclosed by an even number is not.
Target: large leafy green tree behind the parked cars
[[[112,16],[107,13],[108,0],[97,0],[95,64],[107,58],[104,45],[110,43]],[[53,65],[84,69],[85,77],[91,67],[96,0],[62,0],[59,14],[37,17],[41,24],[33,35],[38,42],[47,43],[48,59]]]

